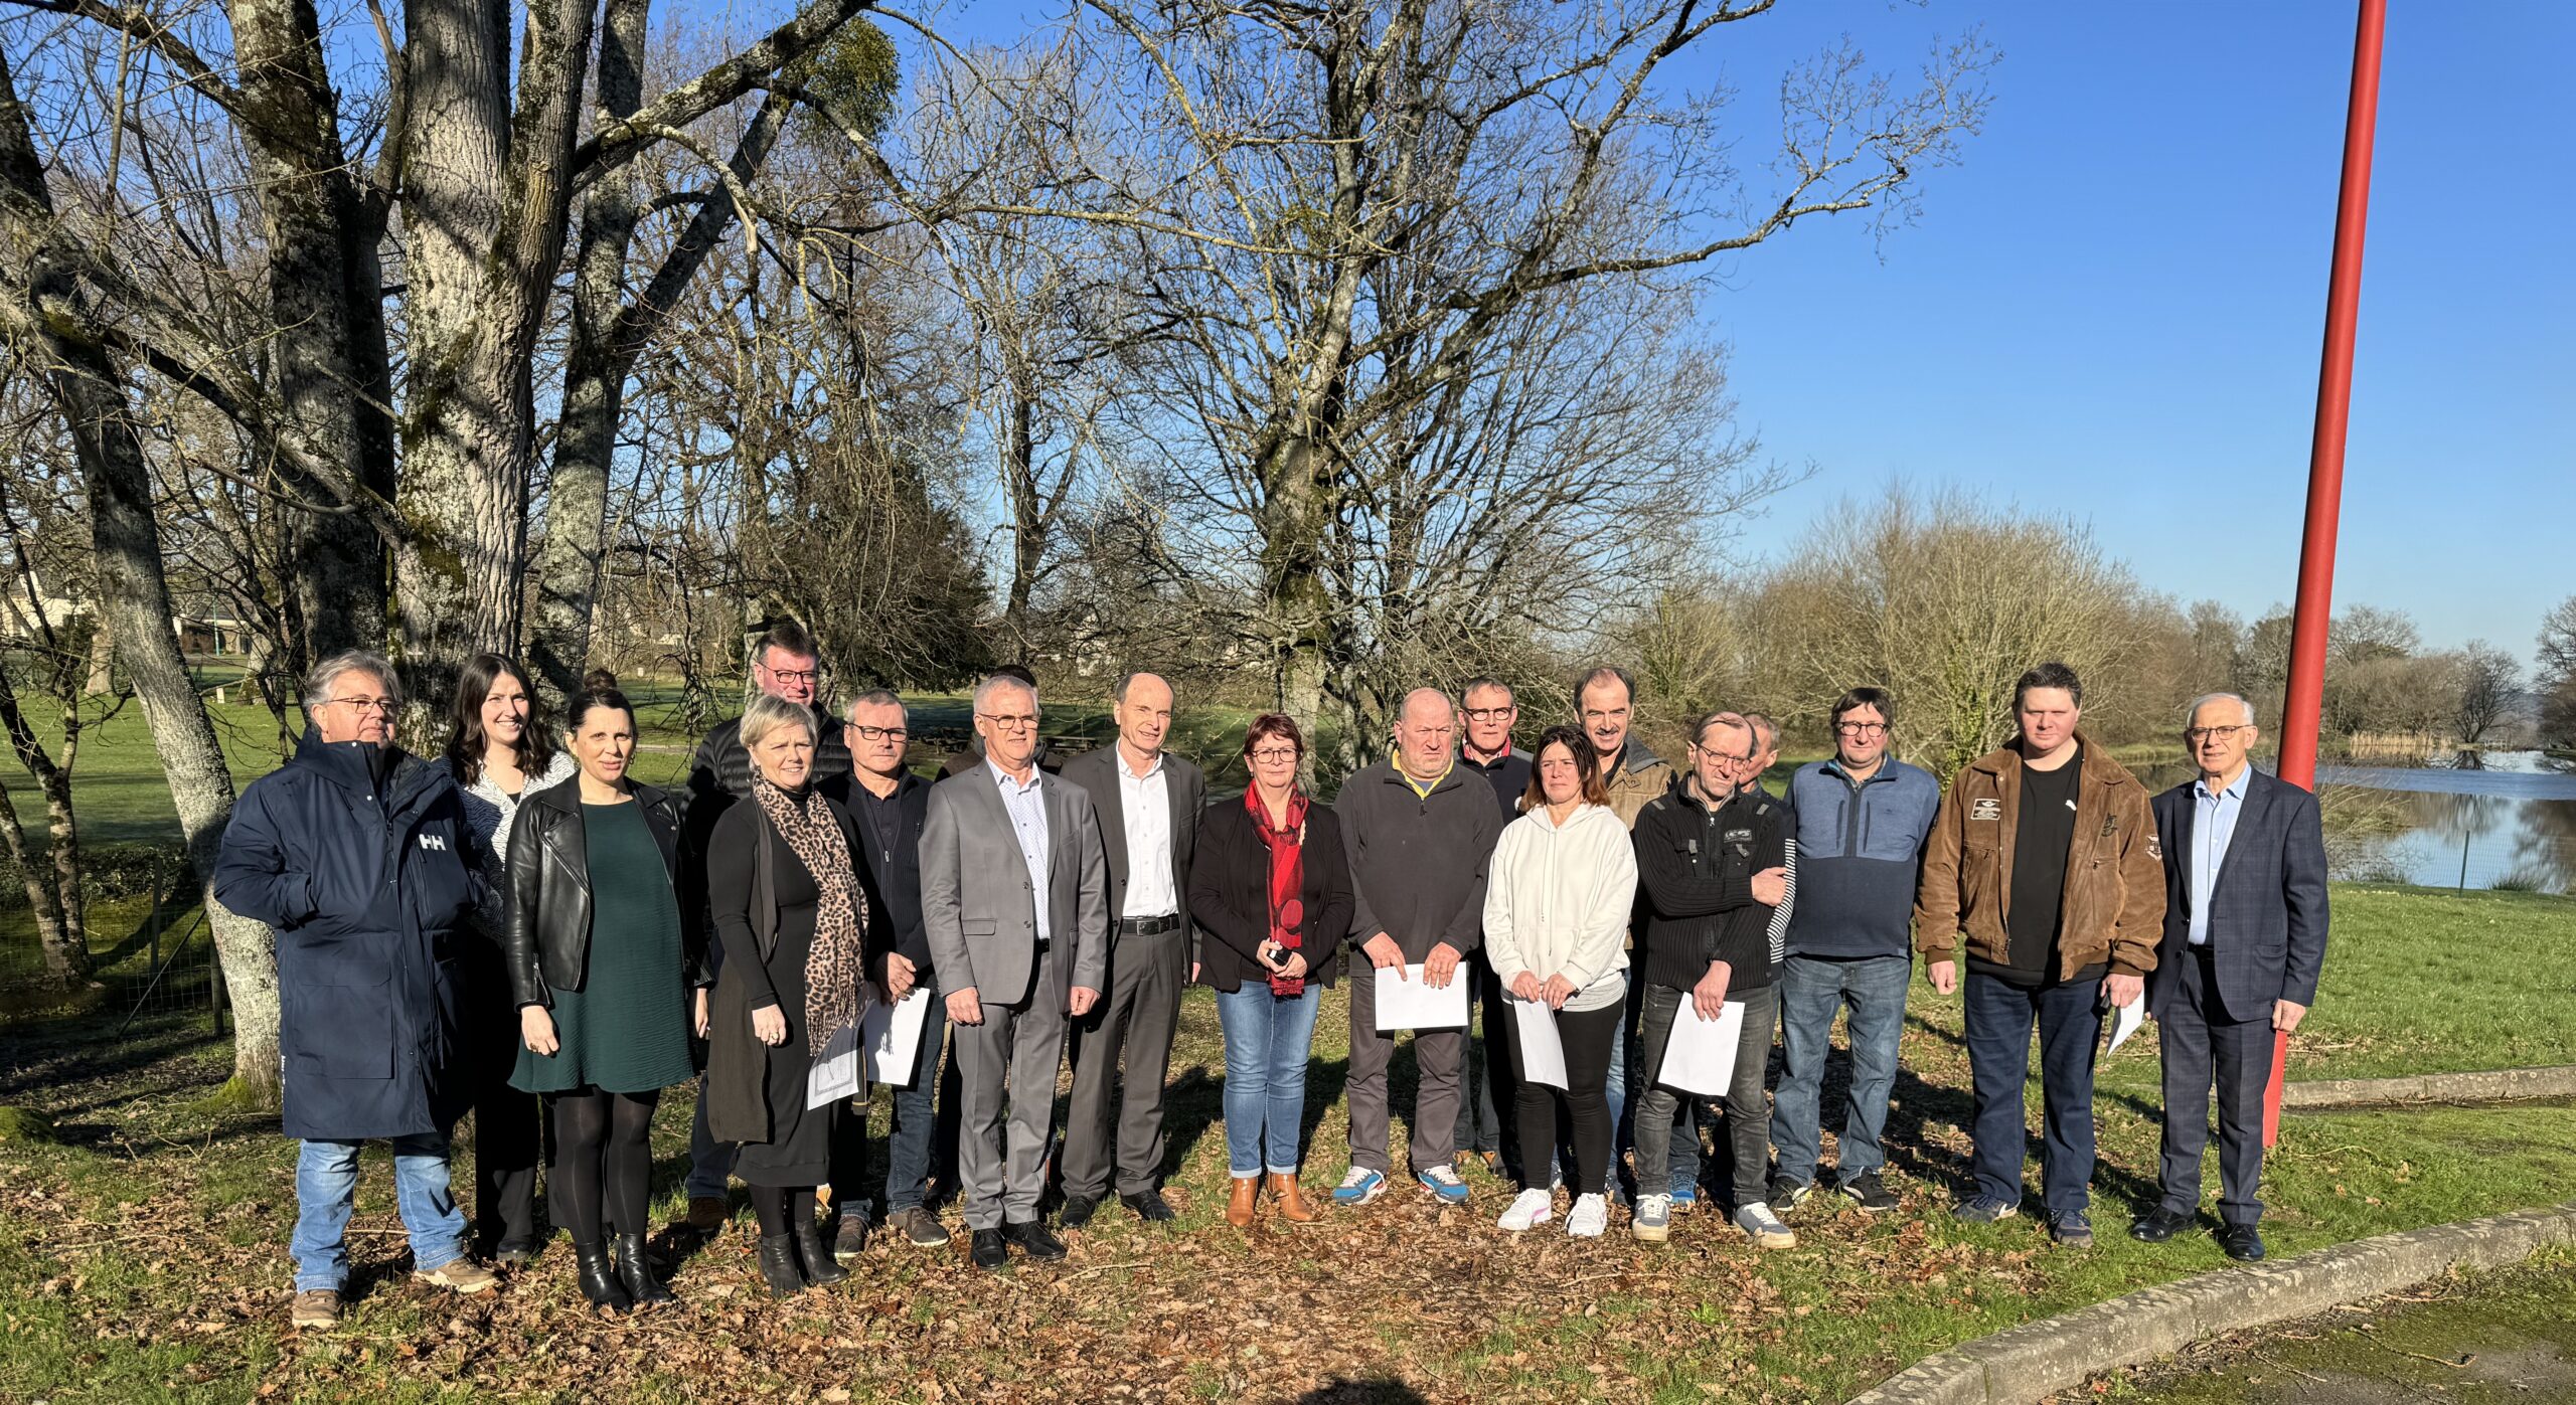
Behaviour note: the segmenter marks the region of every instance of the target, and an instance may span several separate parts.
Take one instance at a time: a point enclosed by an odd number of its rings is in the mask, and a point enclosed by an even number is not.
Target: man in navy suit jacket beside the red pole
[[[2130,1235],[2164,1243],[2200,1212],[2200,1153],[2218,1083],[2218,1243],[2262,1258],[2262,1104],[2272,1032],[2298,1029],[2326,965],[2326,839],[2316,795],[2246,762],[2254,708],[2192,702],[2182,733],[2200,780],[2156,795],[2164,950],[2146,1009],[2164,1027],[2164,1204]]]

